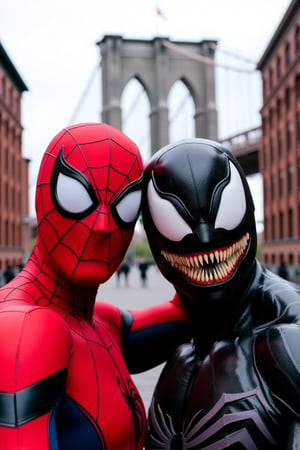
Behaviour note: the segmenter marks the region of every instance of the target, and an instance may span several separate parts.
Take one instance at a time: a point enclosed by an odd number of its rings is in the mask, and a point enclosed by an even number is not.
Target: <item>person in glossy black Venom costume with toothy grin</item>
[[[219,144],[164,147],[143,221],[194,339],[163,370],[146,449],[299,449],[300,290],[256,260],[250,190]]]

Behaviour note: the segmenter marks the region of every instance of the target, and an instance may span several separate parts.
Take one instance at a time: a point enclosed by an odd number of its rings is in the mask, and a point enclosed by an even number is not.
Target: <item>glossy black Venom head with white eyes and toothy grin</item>
[[[162,274],[192,301],[224,299],[248,282],[254,206],[236,159],[204,139],[157,152],[145,168],[143,222]]]

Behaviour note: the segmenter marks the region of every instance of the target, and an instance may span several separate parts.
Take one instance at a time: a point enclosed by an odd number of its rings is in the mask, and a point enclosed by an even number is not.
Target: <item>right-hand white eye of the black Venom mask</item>
[[[236,167],[230,162],[230,182],[224,188],[216,216],[215,228],[234,230],[243,220],[246,211],[244,186]]]

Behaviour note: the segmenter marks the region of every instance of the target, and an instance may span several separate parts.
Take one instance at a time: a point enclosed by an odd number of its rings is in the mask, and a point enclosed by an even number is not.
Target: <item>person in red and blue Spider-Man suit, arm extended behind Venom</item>
[[[176,296],[138,311],[95,302],[130,243],[142,180],[138,148],[111,126],[70,126],[49,144],[36,244],[0,290],[1,450],[142,448],[130,372],[163,361],[187,318]]]

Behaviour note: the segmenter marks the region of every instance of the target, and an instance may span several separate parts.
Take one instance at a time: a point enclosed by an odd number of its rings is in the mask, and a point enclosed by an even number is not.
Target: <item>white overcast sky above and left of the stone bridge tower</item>
[[[35,173],[52,137],[75,122],[99,121],[99,63],[105,34],[151,39],[216,39],[253,61],[262,56],[290,0],[1,0],[0,41],[29,91],[23,95],[23,153]],[[156,5],[165,19],[159,19]],[[92,84],[92,83],[91,83]],[[132,136],[131,136],[132,137]]]

